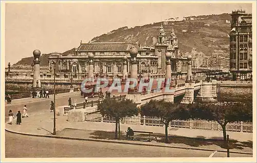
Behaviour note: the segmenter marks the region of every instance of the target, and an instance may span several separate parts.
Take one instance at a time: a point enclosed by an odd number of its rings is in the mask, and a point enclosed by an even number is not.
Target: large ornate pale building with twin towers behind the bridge
[[[179,56],[178,40],[172,29],[167,37],[162,25],[157,34],[157,43],[154,48],[140,47],[130,42],[93,42],[80,43],[74,48],[62,54],[49,56],[49,69],[52,61],[56,62],[56,72],[64,73],[65,78],[82,78],[88,73],[88,54],[94,54],[94,75],[104,77],[121,77],[123,72],[123,57],[127,56],[127,72],[130,73],[130,48],[135,46],[138,50],[138,73],[148,76],[164,76],[166,71],[166,52],[172,53],[172,72],[187,72],[187,58]],[[52,69],[50,69],[52,71]],[[67,75],[68,74],[68,75]]]

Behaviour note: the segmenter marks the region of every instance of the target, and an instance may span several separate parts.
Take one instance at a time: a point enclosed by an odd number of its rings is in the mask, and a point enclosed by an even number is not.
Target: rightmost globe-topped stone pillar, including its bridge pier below
[[[188,74],[187,74],[187,80],[186,80],[186,93],[185,96],[183,97],[181,103],[186,103],[186,104],[192,104],[194,102],[194,82],[192,79],[192,56],[188,56]]]

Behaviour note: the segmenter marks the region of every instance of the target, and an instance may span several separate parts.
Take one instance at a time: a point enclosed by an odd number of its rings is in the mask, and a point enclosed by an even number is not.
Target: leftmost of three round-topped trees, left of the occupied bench
[[[132,117],[138,115],[139,109],[132,100],[123,99],[116,101],[115,99],[104,99],[102,103],[98,105],[98,111],[102,116],[114,117],[115,118],[115,139],[118,137],[119,127],[119,138],[120,138],[120,120],[125,117]]]

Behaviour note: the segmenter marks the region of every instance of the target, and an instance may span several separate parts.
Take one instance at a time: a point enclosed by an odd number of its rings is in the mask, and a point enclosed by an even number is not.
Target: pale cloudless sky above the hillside
[[[217,3],[8,3],[5,4],[5,65],[24,57],[65,52],[78,48],[80,40],[127,26],[135,27],[170,17],[231,13],[236,9],[251,13],[251,4]]]

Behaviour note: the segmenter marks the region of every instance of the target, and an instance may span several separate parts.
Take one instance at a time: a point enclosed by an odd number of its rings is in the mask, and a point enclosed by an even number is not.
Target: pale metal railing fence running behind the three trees
[[[107,122],[115,123],[115,118],[107,117],[100,113],[86,113],[86,121],[94,122]],[[146,126],[163,126],[161,118],[158,117],[126,117],[121,120],[122,124],[131,125],[146,125]],[[170,127],[175,128],[189,128],[189,129],[204,129],[204,130],[222,130],[221,125],[216,121],[206,121],[206,120],[173,120],[169,123]],[[226,125],[227,131],[237,131],[237,132],[252,132],[252,123],[248,122],[234,122],[228,123]]]

